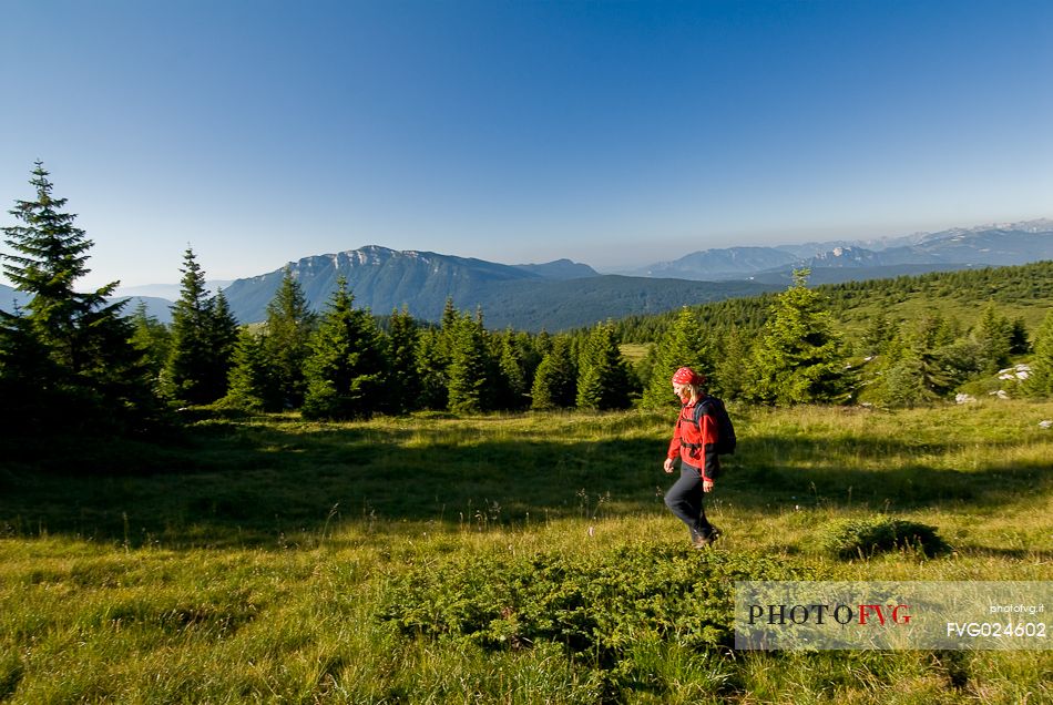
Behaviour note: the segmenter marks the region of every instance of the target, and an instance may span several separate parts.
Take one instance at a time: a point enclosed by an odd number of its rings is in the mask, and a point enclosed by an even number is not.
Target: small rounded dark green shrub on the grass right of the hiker
[[[867,558],[885,551],[916,549],[932,556],[950,546],[933,527],[891,517],[838,520],[820,533],[822,548],[840,559]]]

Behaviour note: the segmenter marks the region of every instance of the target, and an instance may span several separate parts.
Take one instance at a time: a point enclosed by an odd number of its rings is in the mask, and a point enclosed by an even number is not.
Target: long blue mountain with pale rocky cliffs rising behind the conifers
[[[753,282],[715,284],[599,275],[591,267],[569,260],[511,266],[376,245],[305,257],[287,266],[316,309],[325,306],[343,276],[356,305],[378,315],[406,306],[415,317],[439,320],[447,298],[451,298],[461,310],[481,308],[489,327],[524,330],[587,326],[606,318],[658,313],[773,288]],[[284,268],[276,269],[238,279],[224,289],[241,323],[266,317],[267,304],[283,276]]]

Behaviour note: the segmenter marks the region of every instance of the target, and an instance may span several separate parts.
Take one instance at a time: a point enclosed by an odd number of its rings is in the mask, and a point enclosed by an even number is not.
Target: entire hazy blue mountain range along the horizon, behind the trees
[[[1053,259],[1053,221],[871,241],[707,249],[622,274],[600,274],[569,259],[504,265],[431,252],[397,252],[379,245],[304,257],[286,267],[317,309],[325,306],[344,277],[356,305],[369,307],[377,315],[405,306],[418,318],[438,320],[450,298],[460,310],[481,309],[491,328],[554,331],[606,318],[778,290],[793,279],[795,269],[804,267],[811,270],[811,284],[825,284],[1040,259]],[[211,286],[223,287],[241,323],[255,323],[266,316],[286,267]],[[167,321],[178,286],[154,285],[120,293],[133,299],[126,310],[142,300],[147,314]],[[24,305],[20,297],[0,285],[0,308],[11,310],[12,303]]]

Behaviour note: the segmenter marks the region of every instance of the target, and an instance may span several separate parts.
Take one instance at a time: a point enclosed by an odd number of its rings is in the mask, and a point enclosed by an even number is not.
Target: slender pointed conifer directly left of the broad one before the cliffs
[[[304,287],[285,268],[282,284],[267,305],[267,335],[264,350],[273,368],[280,407],[299,408],[304,403],[307,382],[304,365],[310,355],[310,336],[318,317],[308,308]]]

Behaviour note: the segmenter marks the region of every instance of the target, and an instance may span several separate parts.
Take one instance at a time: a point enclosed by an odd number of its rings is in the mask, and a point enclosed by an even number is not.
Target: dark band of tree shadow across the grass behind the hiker
[[[267,546],[294,535],[324,538],[348,521],[493,528],[666,511],[662,494],[673,478],[661,469],[664,439],[536,438],[536,428],[495,438],[452,425],[279,420],[202,423],[166,443],[9,440],[0,443],[0,534]],[[885,468],[890,443],[877,439],[837,448],[794,437],[744,441],[713,499],[747,510],[808,502],[872,510],[959,502],[979,510],[1053,483],[1037,463],[969,472],[920,461]],[[917,453],[940,458],[955,449],[948,442]]]

